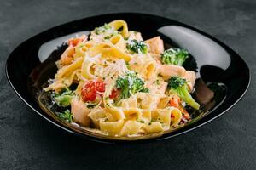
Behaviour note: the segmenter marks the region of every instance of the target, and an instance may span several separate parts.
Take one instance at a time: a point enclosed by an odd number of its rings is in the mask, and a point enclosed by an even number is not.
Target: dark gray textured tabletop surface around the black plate
[[[256,169],[255,1],[1,1],[0,169]],[[28,37],[71,20],[113,12],[158,14],[206,31],[251,69],[247,94],[224,116],[191,133],[146,144],[97,144],[62,132],[31,111],[4,75]],[[20,56],[22,57],[22,56]]]

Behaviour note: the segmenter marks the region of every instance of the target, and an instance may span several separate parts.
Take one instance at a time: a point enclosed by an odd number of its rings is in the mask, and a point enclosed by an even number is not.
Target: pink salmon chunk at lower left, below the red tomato
[[[79,99],[71,100],[71,113],[73,115],[73,122],[77,122],[84,127],[90,126],[90,117],[88,116],[90,110],[84,105],[84,102]]]

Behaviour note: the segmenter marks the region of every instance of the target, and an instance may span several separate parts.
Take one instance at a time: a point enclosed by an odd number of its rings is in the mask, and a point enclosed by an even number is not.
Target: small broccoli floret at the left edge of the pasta
[[[73,91],[66,88],[62,93],[55,94],[54,99],[57,105],[61,107],[67,107],[70,105],[71,99],[73,99],[73,97],[74,97]]]

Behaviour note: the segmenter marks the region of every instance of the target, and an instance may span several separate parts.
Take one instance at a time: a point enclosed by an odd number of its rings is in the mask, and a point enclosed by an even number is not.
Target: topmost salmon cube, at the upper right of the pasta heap
[[[145,41],[149,46],[149,51],[153,54],[162,54],[164,53],[164,42],[158,37],[153,37]]]

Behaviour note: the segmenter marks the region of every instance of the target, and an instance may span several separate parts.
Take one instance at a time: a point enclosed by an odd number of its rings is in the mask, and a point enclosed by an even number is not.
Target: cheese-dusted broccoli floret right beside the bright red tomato
[[[118,77],[116,81],[116,88],[121,90],[119,99],[128,99],[131,94],[137,92],[148,92],[148,88],[144,87],[145,82],[137,77],[133,71],[128,71],[125,76]]]

